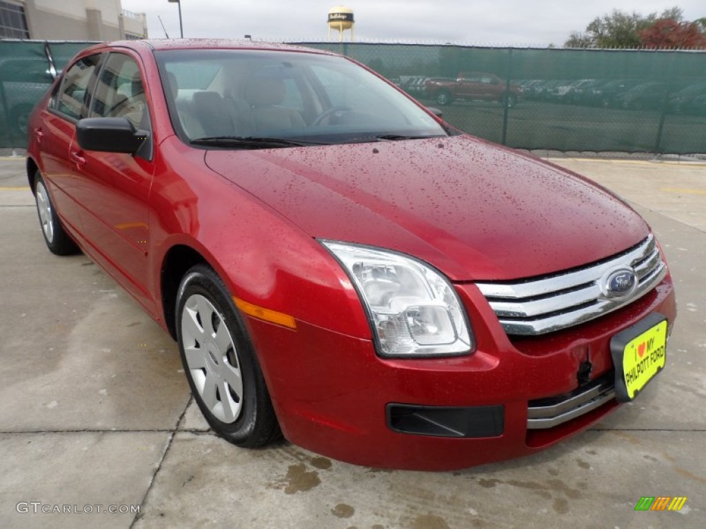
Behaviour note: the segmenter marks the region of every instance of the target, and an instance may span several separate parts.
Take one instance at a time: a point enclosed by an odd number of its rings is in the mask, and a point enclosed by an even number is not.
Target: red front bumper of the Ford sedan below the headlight
[[[666,315],[669,329],[676,317],[668,275],[653,291],[609,315],[510,341],[475,286],[456,288],[477,339],[477,351],[467,357],[383,359],[366,339],[306,322],[292,330],[248,319],[285,437],[318,454],[378,468],[453,470],[529,455],[618,406],[605,382],[613,372],[612,336],[651,312]],[[591,399],[578,399],[590,406],[576,413],[572,403],[579,394],[590,394]],[[593,397],[600,401],[591,403]],[[399,427],[439,422],[447,415],[439,415],[436,407],[465,411],[452,413],[441,430]],[[409,420],[405,410],[417,408],[431,413]],[[390,409],[397,409],[396,419]],[[571,415],[556,420],[566,413]],[[444,434],[449,424],[457,434]]]

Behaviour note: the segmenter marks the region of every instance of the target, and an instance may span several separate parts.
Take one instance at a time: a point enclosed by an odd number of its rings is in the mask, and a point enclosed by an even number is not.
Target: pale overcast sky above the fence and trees
[[[179,9],[167,0],[122,0],[124,9],[147,13],[150,37],[179,37]],[[362,42],[421,42],[561,46],[614,8],[642,15],[678,5],[688,20],[706,16],[705,0],[679,4],[638,0],[181,0],[185,37],[325,41],[333,6],[352,8],[355,38]],[[333,35],[333,34],[332,34]]]

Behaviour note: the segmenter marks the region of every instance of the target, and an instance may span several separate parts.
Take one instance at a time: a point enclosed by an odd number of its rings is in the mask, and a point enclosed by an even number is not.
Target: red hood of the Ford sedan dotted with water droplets
[[[210,150],[205,162],[312,237],[414,255],[455,281],[586,265],[649,232],[584,178],[465,135]]]

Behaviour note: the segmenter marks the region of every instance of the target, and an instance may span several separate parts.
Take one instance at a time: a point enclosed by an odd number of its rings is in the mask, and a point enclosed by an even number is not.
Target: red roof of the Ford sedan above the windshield
[[[244,39],[138,39],[103,42],[90,47],[90,51],[98,51],[106,47],[131,48],[136,51],[161,51],[167,49],[263,49],[273,51],[304,51],[324,55],[335,55],[321,49],[282,44],[279,42],[262,42]]]

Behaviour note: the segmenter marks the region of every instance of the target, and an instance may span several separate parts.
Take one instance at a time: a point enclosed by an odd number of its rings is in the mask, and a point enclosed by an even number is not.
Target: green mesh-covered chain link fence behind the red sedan
[[[356,59],[453,126],[530,150],[706,153],[706,51],[298,43]],[[0,147],[90,43],[0,42]]]

